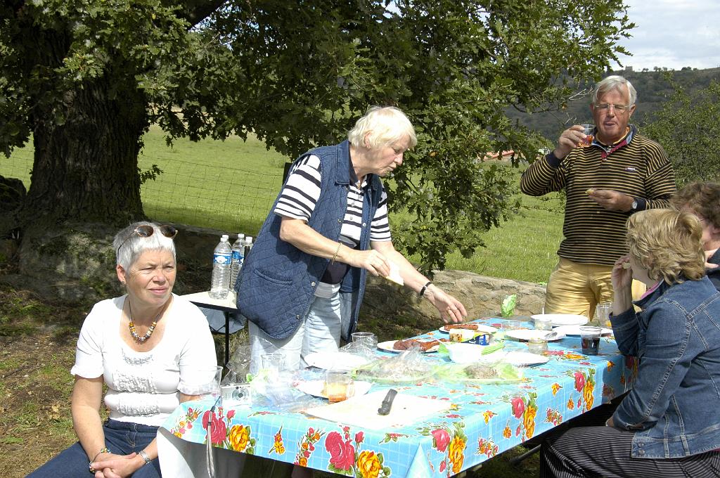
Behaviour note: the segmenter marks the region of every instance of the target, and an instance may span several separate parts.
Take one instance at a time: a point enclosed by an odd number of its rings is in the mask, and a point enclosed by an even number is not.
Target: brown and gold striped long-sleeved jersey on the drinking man
[[[616,145],[596,140],[575,148],[562,161],[550,153],[523,173],[520,189],[531,196],[565,190],[564,239],[558,256],[580,263],[612,266],[628,252],[625,223],[630,212],[608,211],[588,197],[588,189],[613,189],[638,199],[638,209],[669,207],[675,177],[665,150],[631,127]]]

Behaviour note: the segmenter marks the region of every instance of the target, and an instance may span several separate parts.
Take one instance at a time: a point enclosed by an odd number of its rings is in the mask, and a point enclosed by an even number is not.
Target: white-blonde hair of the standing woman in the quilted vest
[[[370,107],[348,132],[348,141],[358,148],[382,148],[405,139],[410,143],[408,148],[418,144],[415,128],[395,107]]]

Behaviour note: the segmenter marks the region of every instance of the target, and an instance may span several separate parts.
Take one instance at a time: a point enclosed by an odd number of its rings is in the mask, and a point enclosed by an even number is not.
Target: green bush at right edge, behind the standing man
[[[660,143],[675,169],[675,181],[720,180],[720,83],[688,91],[667,73],[672,95],[644,127]]]

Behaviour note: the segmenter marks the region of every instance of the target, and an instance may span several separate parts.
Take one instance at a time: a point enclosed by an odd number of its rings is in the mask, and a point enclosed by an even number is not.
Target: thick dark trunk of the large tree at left
[[[138,153],[147,127],[145,99],[138,91],[117,90],[100,78],[67,91],[62,112],[57,105],[35,109],[35,161],[22,222],[44,216],[48,222],[127,224],[143,216]],[[65,116],[62,124],[58,114]]]

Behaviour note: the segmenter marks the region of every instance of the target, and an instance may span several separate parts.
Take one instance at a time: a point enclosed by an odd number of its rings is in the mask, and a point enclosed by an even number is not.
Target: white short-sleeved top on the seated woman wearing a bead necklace
[[[197,370],[217,364],[215,343],[200,310],[173,294],[161,341],[136,352],[120,338],[125,296],[98,302],[80,330],[71,374],[103,376],[105,405],[113,420],[160,426],[179,405],[179,392],[193,394]]]

